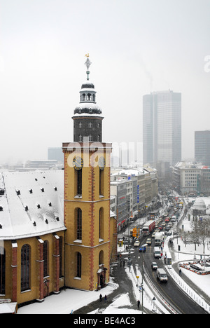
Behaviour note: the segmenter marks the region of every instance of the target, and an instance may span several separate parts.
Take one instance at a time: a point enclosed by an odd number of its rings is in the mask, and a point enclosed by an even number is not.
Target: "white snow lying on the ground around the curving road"
[[[209,198],[209,203],[210,203],[210,198]],[[184,219],[182,221],[183,228],[185,231],[190,231],[190,221],[188,221],[188,215],[186,216],[187,219]],[[169,238],[167,239],[169,240]],[[167,245],[167,240],[165,242],[165,247],[164,247],[164,254],[167,252],[167,257],[170,257],[171,254],[171,248],[168,247]],[[181,247],[181,251],[178,252],[178,245]],[[209,248],[209,250],[208,250]],[[124,251],[124,250],[123,250]],[[121,248],[122,252],[122,248]],[[195,255],[197,259],[200,259],[202,255],[202,259],[204,258],[203,254],[203,246],[202,245],[197,245],[197,250],[195,251],[195,246],[192,244],[187,244],[185,245],[183,240],[181,238],[174,239],[174,263],[180,263],[180,262],[186,262],[186,261],[193,261]],[[122,254],[126,254],[125,252]],[[206,245],[205,247],[205,256],[208,257],[210,256],[210,245]],[[131,268],[131,272],[128,268],[125,269],[127,273],[127,277],[132,280],[133,283],[133,291],[134,291],[134,296],[136,299],[141,299],[141,294],[139,294],[139,285],[141,282],[141,273],[137,270],[137,274],[139,275],[139,281],[137,280],[137,276],[134,273],[134,268]],[[179,277],[175,273],[174,270],[170,270],[172,273],[172,278],[176,280],[176,282],[179,284],[183,290],[188,289],[188,286],[186,283],[183,282],[183,279]],[[200,287],[208,296],[210,299],[210,275],[197,275],[196,273],[193,273],[191,271],[185,270],[182,268],[183,273],[188,276],[190,280],[194,282],[195,285]],[[169,272],[169,271],[168,271]],[[110,284],[106,288],[103,289],[103,294],[109,295],[111,292],[113,292],[113,289],[117,288],[118,285],[116,284]],[[152,302],[153,299],[153,291],[146,285],[146,282],[144,282],[144,306],[148,308],[149,310],[153,310],[155,308],[156,313],[160,313],[159,310],[162,312],[167,313],[167,310],[161,306],[161,304],[158,302],[158,300]],[[186,291],[186,290],[185,290]],[[193,295],[193,292],[191,292],[192,297],[195,297]],[[29,306],[24,306],[20,309],[18,309],[18,314],[52,314],[52,313],[59,313],[59,314],[67,314],[71,313],[71,310],[75,311],[78,308],[81,308],[83,306],[86,306],[88,303],[91,303],[92,301],[97,301],[99,299],[99,292],[87,292],[87,291],[81,291],[81,290],[76,290],[76,289],[66,289],[65,291],[62,291],[58,295],[52,295],[48,296],[43,303],[33,303],[30,304]],[[196,301],[196,298],[195,298]],[[200,302],[199,300],[197,301],[198,303]],[[104,310],[102,310],[103,314],[141,314],[141,306],[138,309],[132,309],[129,308],[131,306],[130,303],[130,298],[128,294],[122,294],[119,295],[118,298],[111,303],[109,307]],[[156,306],[156,307],[155,307]],[[206,309],[210,313],[210,301],[208,304],[204,305],[206,306]],[[208,308],[207,308],[208,306]],[[158,310],[159,309],[159,310]],[[98,309],[94,310],[93,313],[97,313]]]

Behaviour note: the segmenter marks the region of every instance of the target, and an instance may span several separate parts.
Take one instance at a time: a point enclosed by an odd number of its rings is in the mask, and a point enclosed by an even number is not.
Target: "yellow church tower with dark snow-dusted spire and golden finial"
[[[102,142],[102,110],[89,81],[73,115],[73,142],[63,143],[66,287],[101,289],[113,253],[110,219],[111,144]]]

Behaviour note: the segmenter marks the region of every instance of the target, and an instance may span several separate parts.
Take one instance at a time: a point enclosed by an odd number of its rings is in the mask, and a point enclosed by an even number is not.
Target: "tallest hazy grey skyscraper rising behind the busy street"
[[[181,93],[161,91],[143,97],[143,162],[181,160]]]

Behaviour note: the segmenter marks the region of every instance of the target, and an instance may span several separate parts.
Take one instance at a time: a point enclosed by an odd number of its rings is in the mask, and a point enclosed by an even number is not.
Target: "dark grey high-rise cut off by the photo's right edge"
[[[210,166],[210,130],[195,131],[195,160]]]

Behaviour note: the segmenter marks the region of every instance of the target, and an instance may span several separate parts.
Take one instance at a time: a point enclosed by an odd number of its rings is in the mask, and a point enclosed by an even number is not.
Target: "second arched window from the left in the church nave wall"
[[[21,292],[30,289],[31,247],[23,245],[21,249]]]

